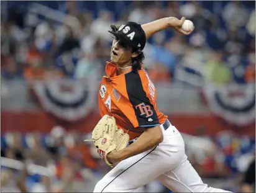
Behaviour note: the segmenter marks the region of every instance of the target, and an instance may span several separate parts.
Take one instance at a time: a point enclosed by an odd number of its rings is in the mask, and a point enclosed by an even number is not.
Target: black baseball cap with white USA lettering
[[[116,32],[107,31],[113,34],[121,42],[134,50],[143,50],[146,44],[146,35],[140,24],[127,22],[122,24]]]

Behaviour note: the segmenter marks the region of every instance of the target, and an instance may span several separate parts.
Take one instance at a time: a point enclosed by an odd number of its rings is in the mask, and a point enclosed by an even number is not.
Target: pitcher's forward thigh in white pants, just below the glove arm
[[[157,159],[158,156],[149,151],[121,161],[96,184],[94,192],[135,191],[164,173],[158,168]]]

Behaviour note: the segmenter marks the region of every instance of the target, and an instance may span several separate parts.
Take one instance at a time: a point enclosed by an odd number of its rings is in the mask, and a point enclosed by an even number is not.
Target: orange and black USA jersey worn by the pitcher
[[[133,140],[146,128],[164,123],[167,115],[157,109],[157,91],[144,68],[118,76],[116,70],[116,65],[107,63],[107,76],[99,86],[99,112],[101,117],[114,116],[117,127]]]

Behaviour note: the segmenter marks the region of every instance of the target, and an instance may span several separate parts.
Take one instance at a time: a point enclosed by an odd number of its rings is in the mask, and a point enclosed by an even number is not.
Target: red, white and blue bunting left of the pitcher
[[[97,104],[97,85],[85,80],[35,81],[33,90],[43,109],[59,119],[83,119]]]

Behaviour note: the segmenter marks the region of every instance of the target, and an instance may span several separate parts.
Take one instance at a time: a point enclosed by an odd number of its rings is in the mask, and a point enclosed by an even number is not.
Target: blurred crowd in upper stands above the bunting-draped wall
[[[177,69],[216,83],[255,79],[253,1],[5,1],[1,5],[2,79],[101,76],[109,60],[110,24],[127,20],[145,24],[170,16],[185,16],[195,30],[185,36],[168,29],[149,39],[145,68],[153,81],[184,79]]]

